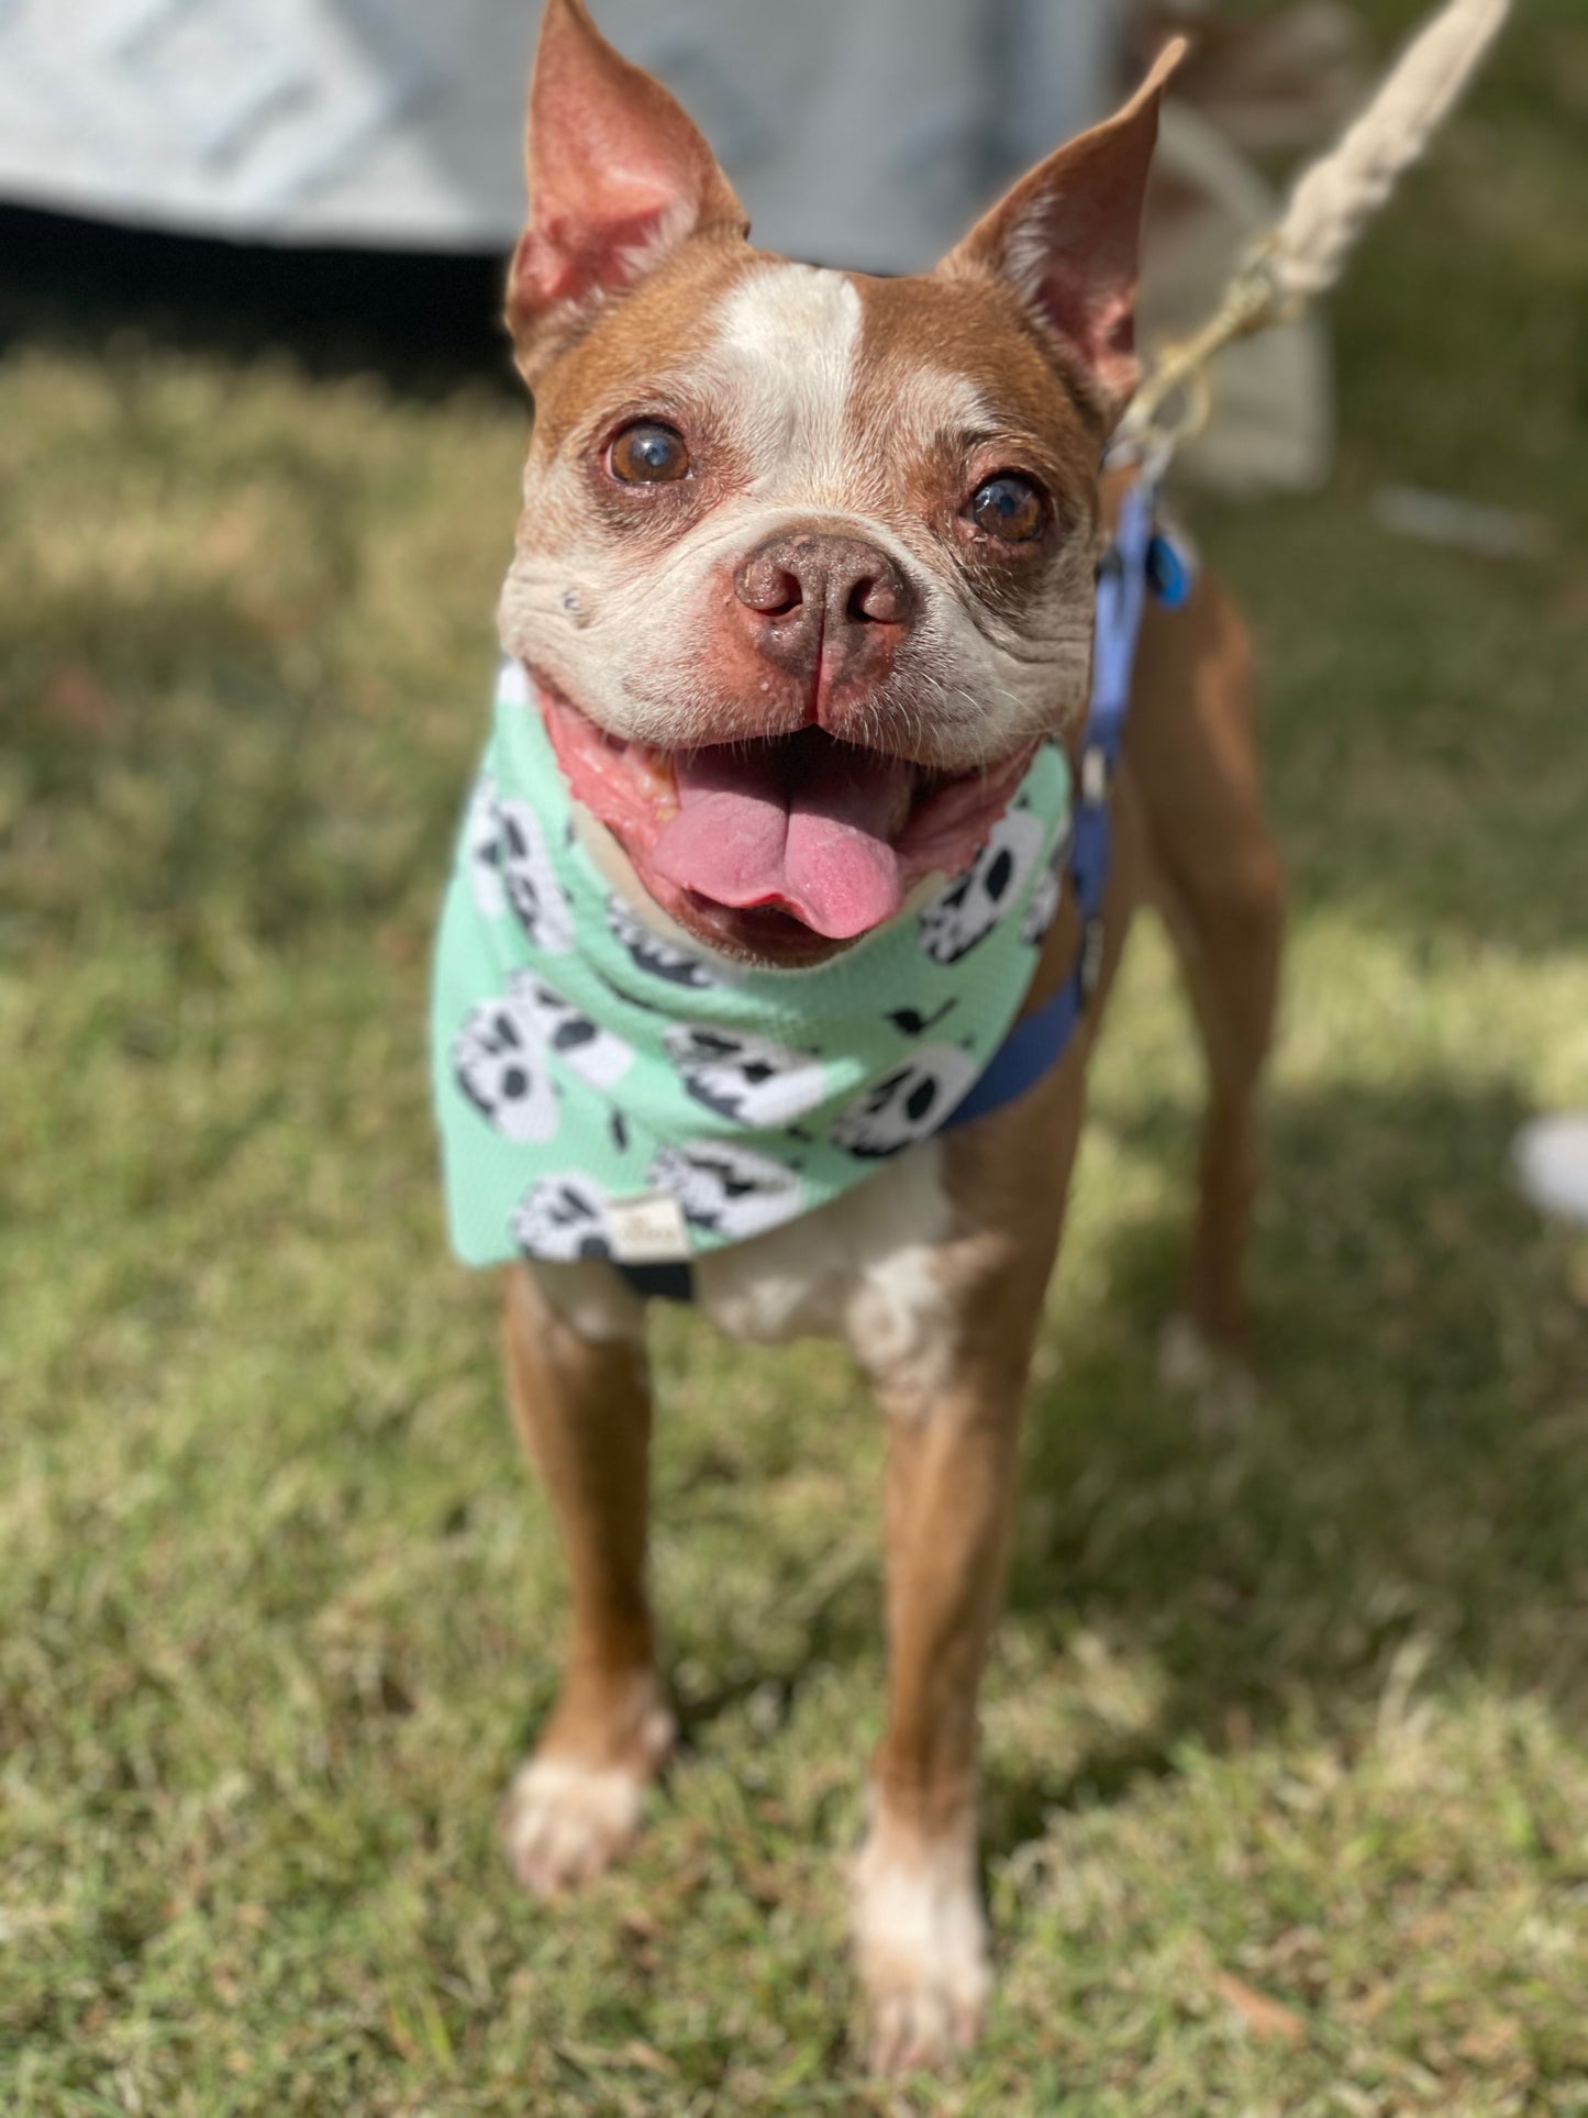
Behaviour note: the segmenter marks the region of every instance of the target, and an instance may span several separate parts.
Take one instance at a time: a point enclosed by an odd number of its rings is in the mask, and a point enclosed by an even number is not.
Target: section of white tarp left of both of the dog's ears
[[[286,244],[493,248],[531,8],[0,0],[0,193]]]

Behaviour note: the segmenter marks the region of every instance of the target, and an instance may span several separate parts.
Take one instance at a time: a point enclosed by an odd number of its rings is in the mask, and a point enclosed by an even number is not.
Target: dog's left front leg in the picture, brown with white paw
[[[508,1275],[508,1396],[572,1580],[563,1688],[508,1794],[519,1879],[555,1896],[633,1838],[673,1739],[646,1595],[650,1377],[637,1317],[576,1328],[527,1269]]]

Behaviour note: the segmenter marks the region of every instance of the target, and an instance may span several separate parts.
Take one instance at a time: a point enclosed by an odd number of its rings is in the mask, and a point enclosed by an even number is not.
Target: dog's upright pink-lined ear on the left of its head
[[[750,231],[699,129],[608,44],[584,0],[546,0],[525,165],[529,225],[508,271],[508,328],[531,379],[601,301],[690,235]]]

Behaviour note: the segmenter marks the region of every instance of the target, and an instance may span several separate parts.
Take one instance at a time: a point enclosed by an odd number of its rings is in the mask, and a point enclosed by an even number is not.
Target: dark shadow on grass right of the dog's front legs
[[[1512,1192],[1505,1089],[1340,1087],[1270,1110],[1256,1419],[1211,1434],[1152,1372],[1184,1231],[1112,1250],[1112,1300],[1037,1392],[1010,1605],[1148,1656],[1160,1709],[1073,1769],[989,1775],[989,1845],[1044,1811],[1383,1694],[1412,1644],[1588,1720],[1588,1313]],[[1184,1127],[1133,1146],[1190,1163]],[[1063,1271],[1063,1264],[1061,1264]]]

